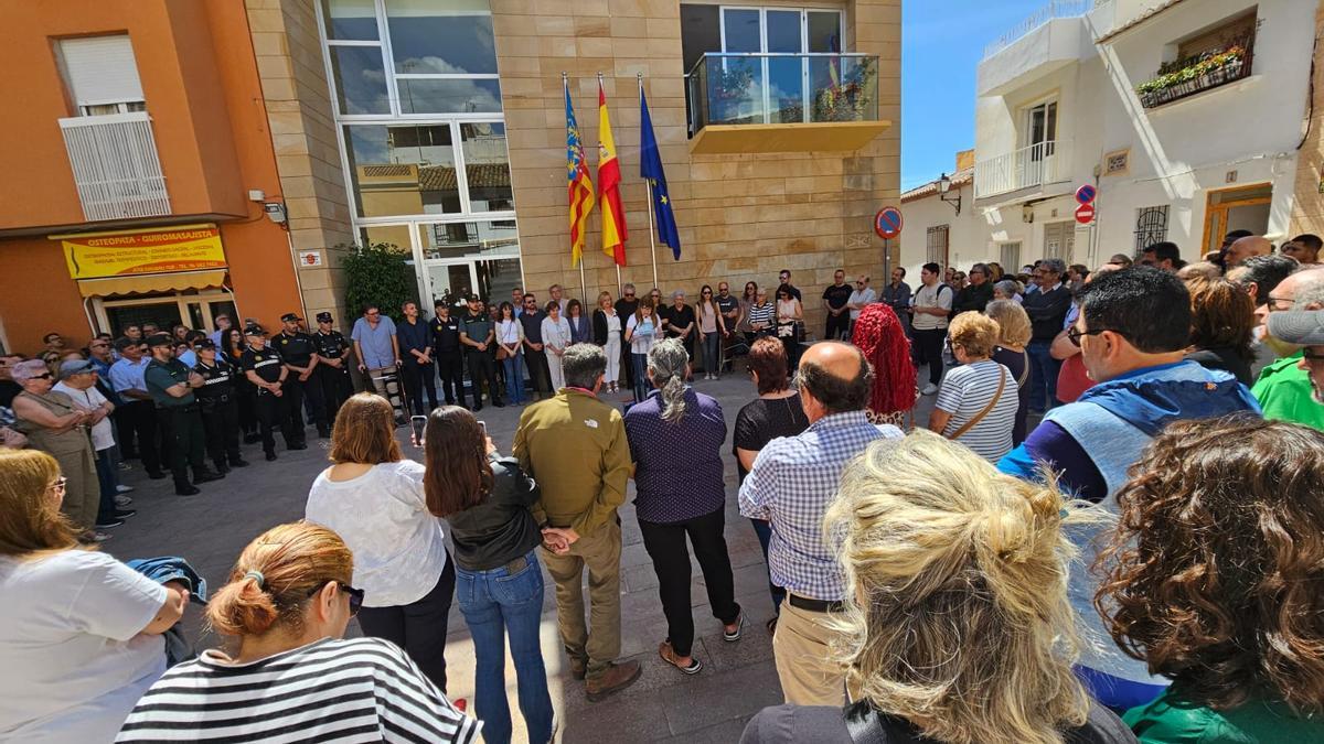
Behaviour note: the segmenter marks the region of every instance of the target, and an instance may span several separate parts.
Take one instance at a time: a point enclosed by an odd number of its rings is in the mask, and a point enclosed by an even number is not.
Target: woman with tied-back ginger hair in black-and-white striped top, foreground
[[[475,741],[482,724],[400,647],[342,639],[363,604],[352,576],[350,548],[326,527],[281,524],[249,543],[207,608],[237,653],[167,671],[117,741]]]

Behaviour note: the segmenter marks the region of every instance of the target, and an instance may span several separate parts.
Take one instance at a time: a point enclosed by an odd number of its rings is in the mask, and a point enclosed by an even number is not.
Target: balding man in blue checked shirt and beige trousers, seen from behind
[[[839,708],[846,703],[845,674],[829,661],[828,646],[839,635],[830,616],[841,610],[846,584],[824,541],[824,512],[851,458],[874,440],[903,434],[865,417],[874,373],[858,348],[817,343],[800,357],[796,377],[809,428],[759,451],[740,486],[740,514],[772,523],[768,571],[786,590],[772,650],[786,702]]]

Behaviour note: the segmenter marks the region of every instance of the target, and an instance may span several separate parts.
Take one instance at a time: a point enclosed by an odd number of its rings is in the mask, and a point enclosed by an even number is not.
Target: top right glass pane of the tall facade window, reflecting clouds
[[[487,0],[388,0],[397,73],[495,74]]]

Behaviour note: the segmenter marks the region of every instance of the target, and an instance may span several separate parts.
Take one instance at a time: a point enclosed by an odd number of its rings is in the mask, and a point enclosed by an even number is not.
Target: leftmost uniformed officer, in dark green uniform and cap
[[[204,454],[203,416],[197,409],[193,391],[203,387],[203,379],[175,359],[172,351],[175,339],[168,334],[155,334],[147,339],[152,360],[143,371],[147,395],[156,405],[156,422],[169,453],[169,469],[175,475],[175,492],[192,496],[199,483],[224,478],[220,473],[207,469]],[[193,482],[188,481],[188,469],[193,469]]]

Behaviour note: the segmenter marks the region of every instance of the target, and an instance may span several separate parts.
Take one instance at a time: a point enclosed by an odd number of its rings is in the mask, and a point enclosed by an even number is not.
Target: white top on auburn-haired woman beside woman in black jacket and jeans
[[[340,534],[354,551],[354,585],[364,606],[416,602],[446,568],[442,520],[428,511],[424,466],[412,459],[383,462],[350,481],[323,470],[312,482],[303,515]]]

